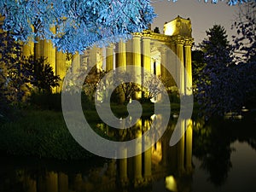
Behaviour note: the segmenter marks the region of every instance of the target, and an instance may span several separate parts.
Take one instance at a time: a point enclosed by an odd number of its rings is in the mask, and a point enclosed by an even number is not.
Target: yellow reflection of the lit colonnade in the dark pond
[[[155,117],[159,118],[160,117]],[[150,119],[140,119],[135,129],[112,132],[109,127],[106,133],[110,136],[129,136],[131,132],[141,137],[152,123]],[[189,126],[185,135],[176,146],[170,147],[175,123],[169,124],[166,132],[152,148],[143,154],[122,160],[105,160],[103,165],[87,166],[86,171],[73,172],[44,167],[15,168],[9,167],[1,172],[1,191],[26,192],[82,192],[82,191],[191,191],[192,181],[192,120],[182,122]],[[146,138],[146,142],[152,142]],[[142,144],[135,148],[142,151]],[[121,148],[119,153],[127,153]],[[42,168],[42,167],[41,167]],[[84,168],[83,168],[84,170]],[[6,175],[8,172],[8,175]]]

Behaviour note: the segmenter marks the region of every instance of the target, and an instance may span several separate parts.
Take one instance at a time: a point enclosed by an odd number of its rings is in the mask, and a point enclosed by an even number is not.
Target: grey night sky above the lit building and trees
[[[173,20],[177,15],[180,15],[185,19],[190,18],[195,44],[206,38],[206,31],[214,24],[224,26],[230,41],[231,35],[236,35],[236,32],[230,28],[239,8],[238,6],[227,5],[227,0],[219,1],[218,4],[212,4],[211,0],[209,0],[210,3],[204,3],[204,0],[201,0],[201,2],[198,2],[198,0],[177,0],[176,3],[172,3],[172,0],[170,2],[167,0],[152,0],[151,2],[155,13],[158,15],[154,19],[152,29],[158,26],[160,32],[162,32],[166,21]]]

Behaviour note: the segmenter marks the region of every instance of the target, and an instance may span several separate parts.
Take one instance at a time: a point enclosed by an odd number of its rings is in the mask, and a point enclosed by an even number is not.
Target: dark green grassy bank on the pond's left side
[[[92,155],[74,141],[61,112],[26,110],[18,120],[1,125],[0,131],[0,150],[7,154],[59,160]]]

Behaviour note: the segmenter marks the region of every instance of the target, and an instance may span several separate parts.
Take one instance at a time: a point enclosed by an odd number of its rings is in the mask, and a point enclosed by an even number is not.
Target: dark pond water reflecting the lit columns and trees
[[[160,120],[157,115],[154,118]],[[140,137],[152,122],[152,119],[140,119],[132,129],[121,131],[106,125],[98,128],[108,137],[125,141]],[[256,130],[251,126],[253,123],[254,119],[212,119],[207,123],[202,119],[183,120],[181,125],[183,128],[188,126],[187,131],[177,145],[170,147],[176,125],[176,122],[170,122],[163,137],[152,148],[122,160],[95,157],[82,162],[56,162],[5,157],[0,168],[0,191],[255,191]],[[145,139],[152,143],[149,137]],[[191,161],[192,142],[195,167]],[[241,150],[241,142],[247,143],[247,148]],[[134,149],[140,151],[142,148],[142,144],[138,144]],[[234,148],[240,151],[235,153]],[[127,148],[122,148],[119,153],[127,154]],[[250,174],[245,174],[248,170]]]

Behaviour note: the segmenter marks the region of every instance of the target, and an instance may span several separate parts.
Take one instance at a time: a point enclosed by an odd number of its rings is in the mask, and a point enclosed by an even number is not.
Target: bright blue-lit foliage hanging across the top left
[[[247,1],[227,0],[230,5]],[[50,39],[71,53],[129,38],[132,32],[146,29],[156,16],[150,0],[2,0],[0,9],[3,28],[16,39]]]

